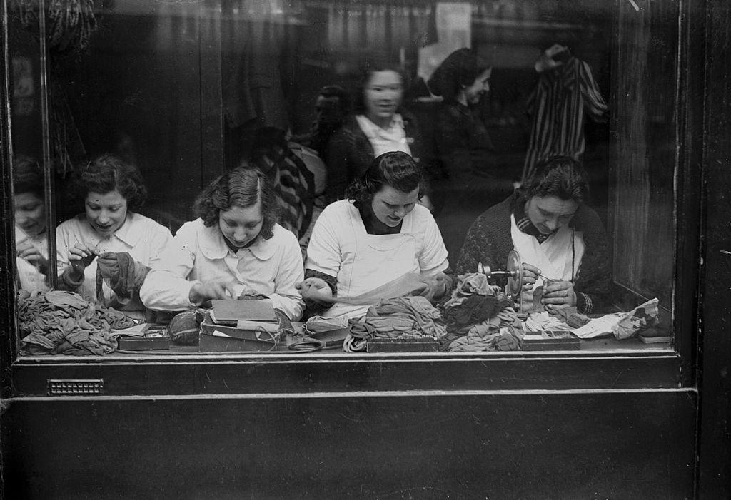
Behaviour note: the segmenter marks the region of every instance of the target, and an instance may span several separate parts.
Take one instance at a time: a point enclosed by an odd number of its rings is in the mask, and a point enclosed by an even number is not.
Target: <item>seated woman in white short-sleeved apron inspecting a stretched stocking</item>
[[[436,222],[417,204],[424,175],[403,151],[384,153],[322,211],[307,248],[303,295],[355,297],[409,272],[420,273],[428,295],[450,289],[447,249]],[[320,304],[322,306],[322,304]],[[320,307],[322,308],[322,307]],[[323,315],[356,318],[368,306],[336,302]]]

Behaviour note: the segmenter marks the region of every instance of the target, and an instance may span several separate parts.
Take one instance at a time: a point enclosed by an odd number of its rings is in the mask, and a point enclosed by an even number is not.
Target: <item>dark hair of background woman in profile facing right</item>
[[[474,80],[491,66],[477,57],[474,50],[463,48],[447,55],[429,78],[427,85],[435,96],[456,99],[463,87],[469,87]]]

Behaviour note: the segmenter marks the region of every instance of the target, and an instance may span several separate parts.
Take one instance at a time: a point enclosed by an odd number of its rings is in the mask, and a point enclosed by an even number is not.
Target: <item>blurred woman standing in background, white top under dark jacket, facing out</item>
[[[403,99],[400,69],[388,64],[366,68],[355,96],[355,115],[349,115],[330,138],[325,161],[327,201],[342,199],[348,185],[366,172],[376,156],[388,151],[412,155],[417,164],[427,161],[416,120],[401,107]],[[422,164],[422,168],[429,166]]]

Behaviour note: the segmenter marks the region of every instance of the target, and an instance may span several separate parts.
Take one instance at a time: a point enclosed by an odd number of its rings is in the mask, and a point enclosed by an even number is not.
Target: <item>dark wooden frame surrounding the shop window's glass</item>
[[[703,64],[702,13],[683,1],[678,53],[673,350],[479,353],[470,355],[140,355],[19,358],[12,255],[10,95],[3,30],[0,189],[0,397],[48,394],[50,379],[102,379],[107,396],[409,391],[550,391],[692,388],[696,384]],[[7,6],[2,23],[7,27]]]

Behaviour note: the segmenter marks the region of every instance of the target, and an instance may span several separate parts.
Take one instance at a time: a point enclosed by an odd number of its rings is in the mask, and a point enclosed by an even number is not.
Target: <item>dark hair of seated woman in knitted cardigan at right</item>
[[[524,199],[556,196],[583,204],[589,199],[589,183],[580,162],[570,156],[551,156],[539,161],[533,176],[518,189]]]

